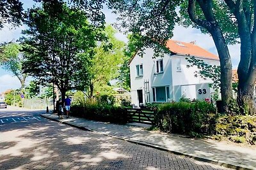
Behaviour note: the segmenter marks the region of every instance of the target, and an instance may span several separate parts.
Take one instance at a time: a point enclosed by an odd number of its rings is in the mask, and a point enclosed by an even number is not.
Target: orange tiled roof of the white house
[[[204,59],[220,60],[217,55],[207,52],[207,50],[204,50],[200,46],[194,45],[193,43],[184,43],[182,41],[169,39],[166,42],[166,47],[169,48],[171,52],[181,55],[190,55]]]

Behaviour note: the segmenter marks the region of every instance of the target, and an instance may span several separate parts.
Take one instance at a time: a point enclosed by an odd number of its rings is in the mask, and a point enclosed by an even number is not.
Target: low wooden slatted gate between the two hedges
[[[127,109],[127,116],[129,122],[136,122],[141,124],[154,124],[155,112],[149,109]]]

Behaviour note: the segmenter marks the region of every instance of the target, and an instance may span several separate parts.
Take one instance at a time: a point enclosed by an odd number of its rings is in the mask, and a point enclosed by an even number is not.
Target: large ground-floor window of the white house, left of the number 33
[[[152,89],[154,102],[166,102],[170,99],[169,86],[153,87]]]

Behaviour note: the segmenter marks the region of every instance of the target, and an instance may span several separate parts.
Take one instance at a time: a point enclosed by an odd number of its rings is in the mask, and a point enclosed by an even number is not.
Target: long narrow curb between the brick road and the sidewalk
[[[63,121],[55,119],[55,118],[47,117],[47,116],[45,116],[43,114],[41,114],[40,116],[44,117],[44,118],[48,118],[48,119],[53,120],[55,122],[60,122],[61,124],[65,124],[65,125],[70,125],[72,127],[76,127],[78,129],[81,129],[81,130],[84,130],[84,131],[95,132],[97,134],[103,134],[103,133],[94,131],[93,129],[90,129],[90,128],[87,128],[87,127],[83,127],[83,126],[80,126],[80,125],[76,125],[76,124],[72,124],[70,122],[63,122]],[[182,153],[182,152],[176,152],[176,151],[168,150],[167,148],[165,148],[163,146],[153,145],[151,143],[145,143],[143,141],[135,141],[135,140],[132,140],[132,139],[129,139],[129,138],[121,138],[121,137],[118,137],[118,136],[112,136],[110,134],[103,134],[103,135],[104,136],[109,136],[111,138],[121,139],[121,140],[130,142],[130,143],[134,143],[134,144],[137,144],[137,145],[148,146],[150,148],[154,148],[154,149],[157,149],[157,150],[163,150],[165,152],[170,152],[170,153],[173,153],[175,155],[181,155],[181,156],[189,157],[191,159],[199,160],[199,161],[202,161],[202,162],[216,164],[216,165],[223,166],[223,167],[228,167],[228,168],[237,169],[237,170],[253,170],[253,169],[250,169],[248,167],[236,166],[236,165],[233,165],[233,164],[228,164],[228,163],[225,163],[225,162],[220,162],[218,160],[211,160],[211,159],[206,159],[206,158],[202,158],[202,157],[196,157],[196,156],[193,156],[193,155],[188,155],[188,154]]]

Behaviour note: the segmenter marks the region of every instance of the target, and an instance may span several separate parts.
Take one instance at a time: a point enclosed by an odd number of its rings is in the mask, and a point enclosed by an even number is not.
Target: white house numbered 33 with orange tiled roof
[[[196,57],[207,64],[220,66],[218,56],[207,52],[194,43],[168,40],[171,53],[153,59],[154,50],[147,48],[143,57],[134,55],[129,66],[131,73],[132,104],[165,103],[190,99],[211,99],[211,80],[195,77],[197,67],[186,67],[186,57]]]

